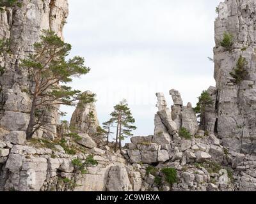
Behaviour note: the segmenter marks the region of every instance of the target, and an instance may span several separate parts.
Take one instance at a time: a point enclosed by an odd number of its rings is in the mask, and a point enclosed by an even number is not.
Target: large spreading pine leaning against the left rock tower
[[[85,75],[90,68],[84,66],[83,57],[66,60],[71,45],[64,43],[53,31],[44,31],[41,41],[34,44],[35,52],[22,61],[22,68],[27,68],[33,81],[31,91],[32,106],[30,120],[26,130],[27,139],[31,139],[38,129],[50,127],[49,111],[60,105],[72,106],[77,101],[90,103],[94,95],[82,94],[68,87],[72,77]]]

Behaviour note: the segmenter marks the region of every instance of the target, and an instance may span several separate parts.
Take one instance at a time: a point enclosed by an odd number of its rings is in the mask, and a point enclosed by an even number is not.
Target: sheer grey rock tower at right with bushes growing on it
[[[218,136],[236,152],[254,154],[255,149],[255,1],[225,1],[215,21],[214,78],[216,79]],[[223,33],[232,34],[232,52],[221,47]],[[244,49],[243,49],[244,48]],[[246,59],[248,75],[236,84],[230,72],[239,57]]]

